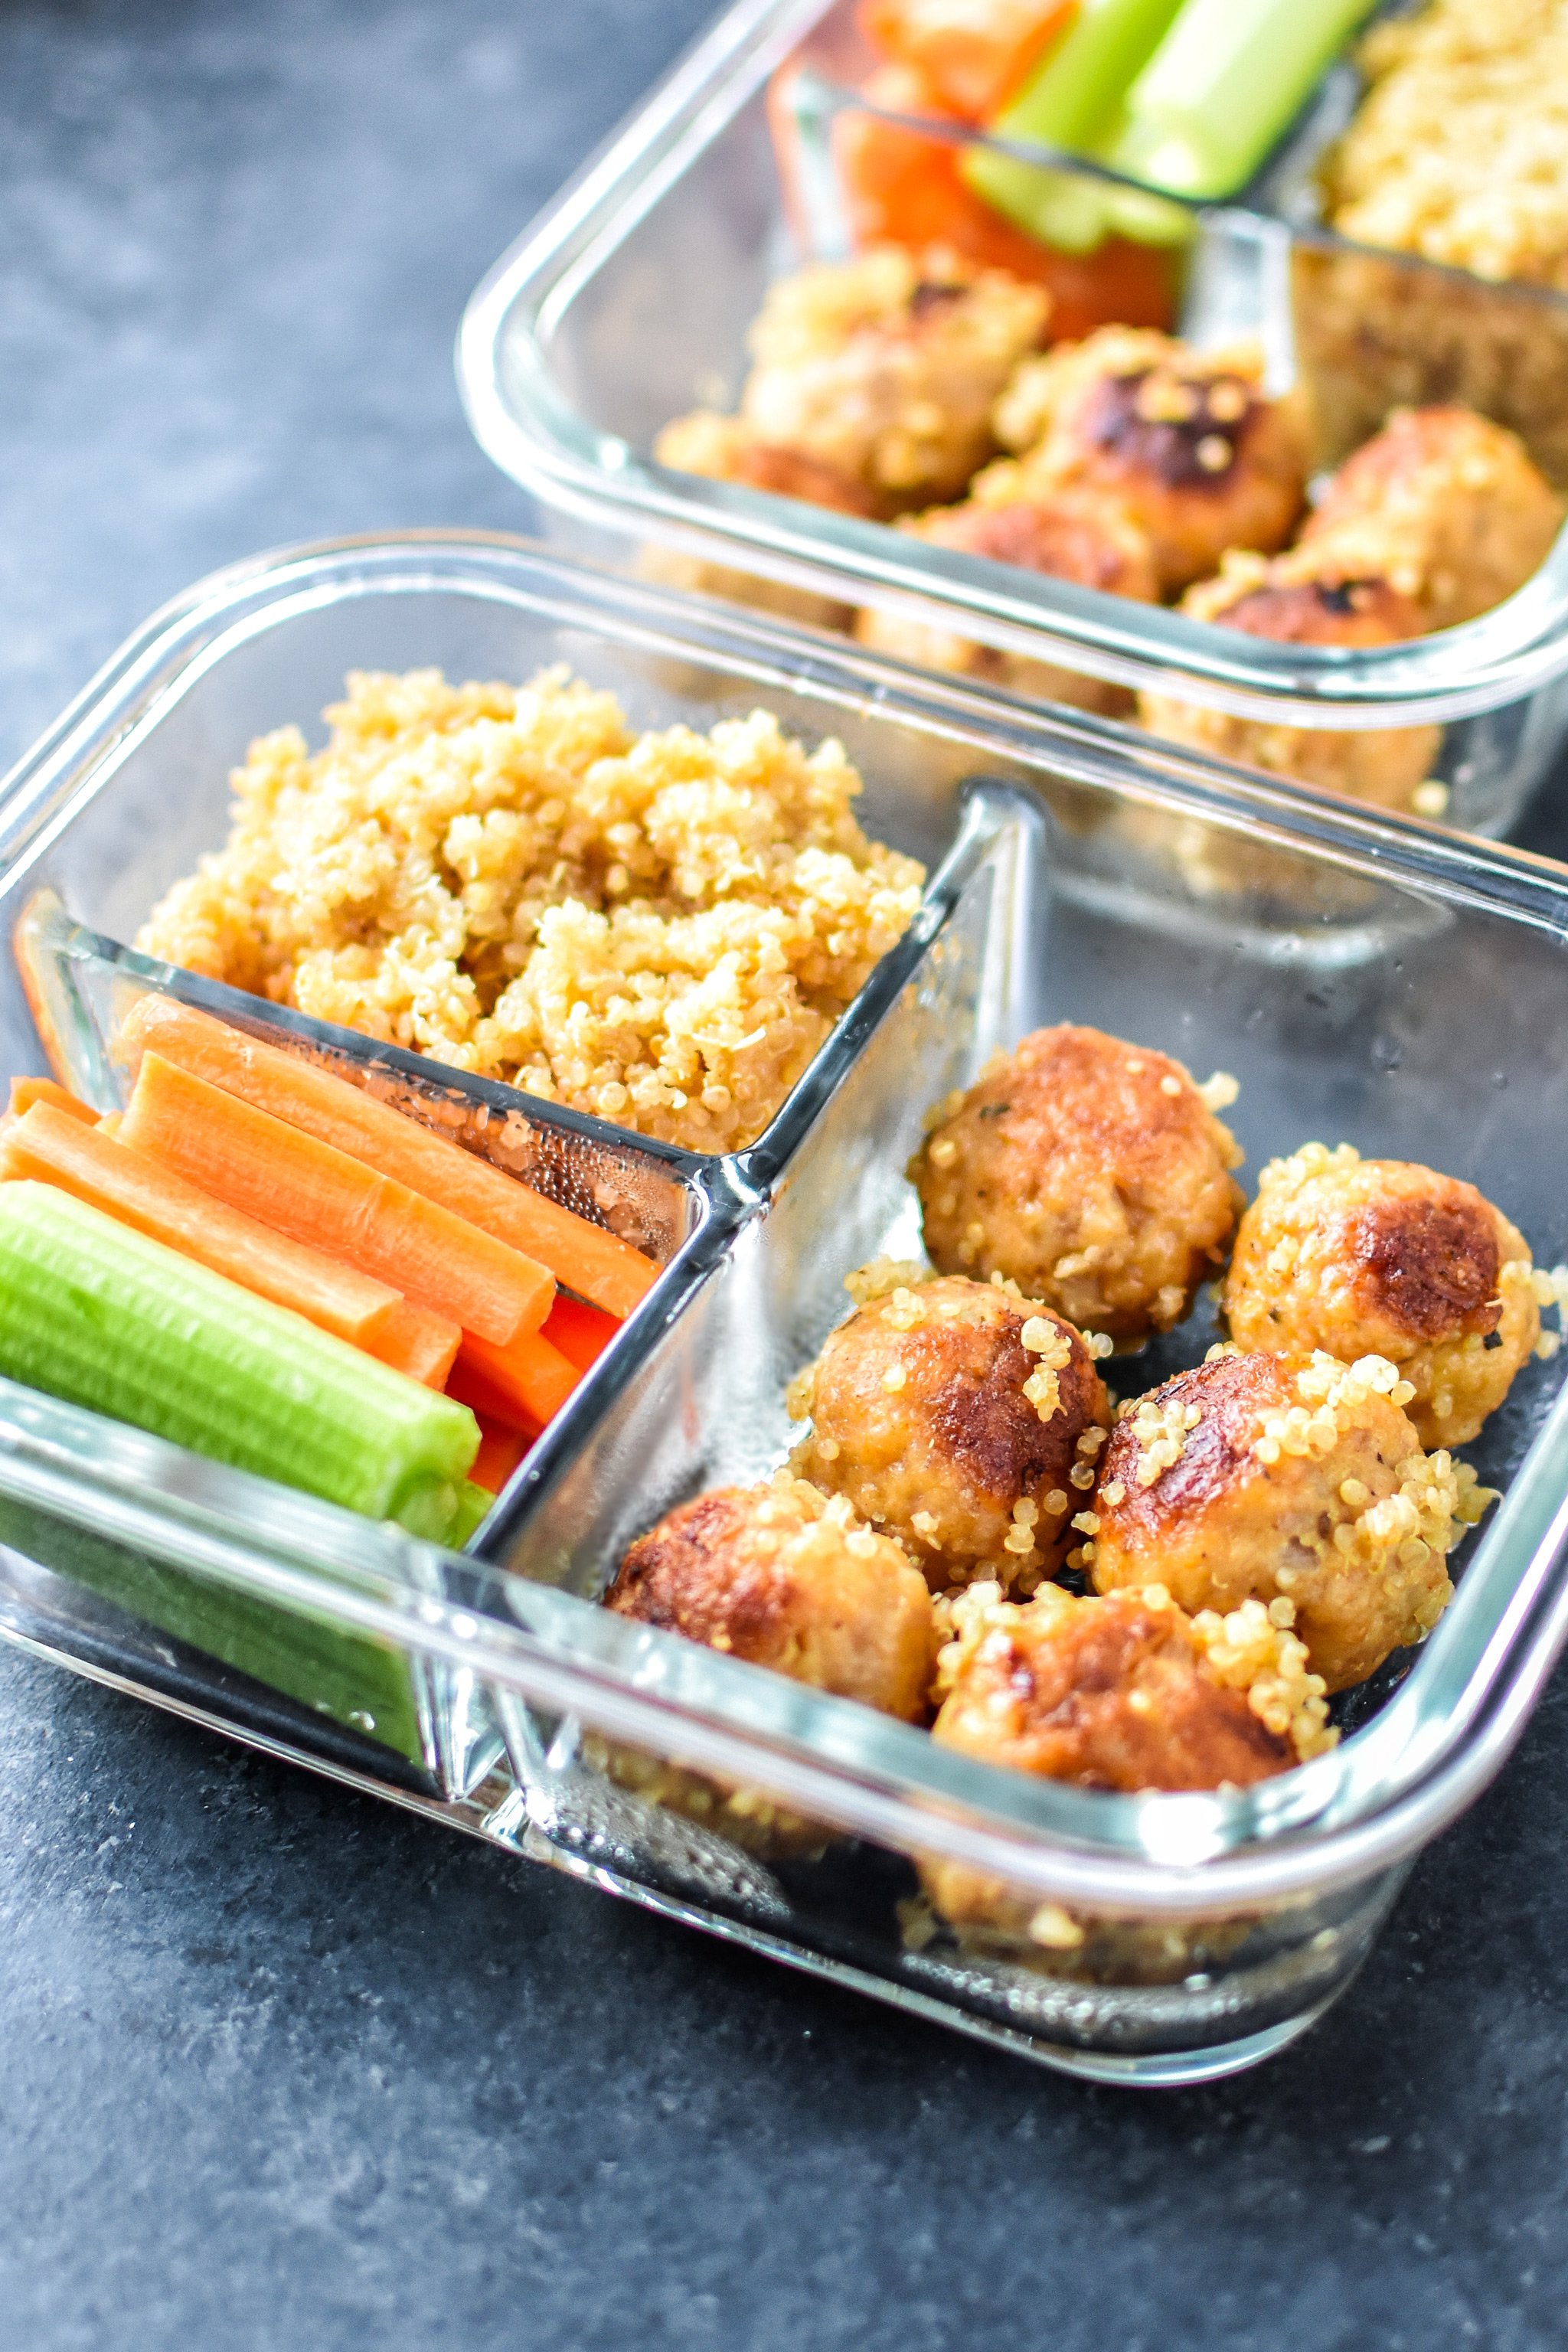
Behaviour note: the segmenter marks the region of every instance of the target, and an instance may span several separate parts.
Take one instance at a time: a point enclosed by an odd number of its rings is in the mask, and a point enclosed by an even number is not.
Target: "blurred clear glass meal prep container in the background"
[[[458,343],[468,414],[494,461],[538,496],[552,534],[621,562],[630,543],[632,562],[682,567],[715,593],[764,604],[780,590],[799,604],[804,593],[844,621],[879,607],[1241,717],[1316,729],[1434,722],[1443,741],[1432,779],[1448,821],[1507,833],[1568,724],[1563,539],[1481,619],[1349,652],[1218,628],[651,459],[670,419],[733,409],[769,282],[851,252],[832,122],[867,111],[853,87],[865,61],[856,0],[741,0],[475,292]],[[780,66],[790,78],[776,85]],[[1199,346],[1258,339],[1269,388],[1298,381],[1312,393],[1321,466],[1396,405],[1462,400],[1519,430],[1568,489],[1568,299],[1356,247],[1314,223],[1312,165],[1354,85],[1354,66],[1331,71],[1246,200],[1185,207],[1180,332]],[[790,191],[773,139],[778,89],[792,115]],[[1004,153],[1107,179],[1056,151]]]

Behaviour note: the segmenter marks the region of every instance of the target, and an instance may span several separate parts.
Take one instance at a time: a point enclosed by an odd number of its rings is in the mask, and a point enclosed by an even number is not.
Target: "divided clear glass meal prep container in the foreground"
[[[839,736],[922,908],[759,1143],[693,1157],[132,953],[226,830],[228,769],[348,668],[524,680],[564,661],[635,724],[766,706]],[[1267,858],[1220,931],[1135,882],[1140,828]],[[1568,1635],[1568,1402],[1530,1364],[1472,1449],[1505,1489],[1418,1653],[1342,1703],[1342,1745],[1251,1792],[1112,1797],[597,1606],[630,1538],[790,1444],[783,1390],[844,1277],[919,1240],[922,1112],[997,1042],[1074,1018],[1241,1082],[1255,1171],[1309,1136],[1474,1178],[1568,1256],[1568,882],[1547,861],[1206,771],[710,600],[442,534],[261,557],[158,614],[0,800],[5,1070],[118,1098],[141,990],[310,1047],[527,1176],[663,1277],[465,1552],[369,1524],[0,1383],[0,1632],[273,1755],[1048,2065],[1173,2084],[1255,2063],[1354,1976],[1410,1858],[1497,1771]],[[1241,903],[1241,901],[1239,901]],[[1154,920],[1152,910],[1159,913]],[[1204,1315],[1107,1367],[1135,1392]],[[628,1771],[628,1759],[639,1759]],[[813,1825],[748,1851],[661,1804],[717,1776]],[[959,1943],[912,1856],[1088,1922],[1084,1957]]]

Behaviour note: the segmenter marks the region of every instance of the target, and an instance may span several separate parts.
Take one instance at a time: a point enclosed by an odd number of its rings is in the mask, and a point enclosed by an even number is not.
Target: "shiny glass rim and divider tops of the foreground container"
[[[162,607],[0,786],[5,887],[26,877],[40,847],[68,823],[122,748],[153,729],[181,682],[221,659],[226,644],[310,607],[430,588],[543,609],[644,649],[677,649],[745,675],[764,691],[773,682],[827,708],[886,715],[966,743],[978,762],[992,755],[1065,781],[1117,788],[1568,941],[1568,875],[1552,861],[1460,842],[1420,821],[1326,807],[1300,788],[1229,781],[1107,722],[1013,713],[943,680],[898,675],[898,666],[889,670],[853,647],[839,649],[762,616],[731,616],[703,597],[599,574],[527,541],[477,532],[367,534],[284,548],[212,574]],[[1006,823],[1025,823],[1030,809],[1034,802],[1018,786],[978,788],[959,842],[926,894],[936,917],[954,903],[964,870]],[[940,920],[933,920],[912,938],[912,953],[929,953],[938,934]],[[141,976],[162,985],[174,981],[169,967],[125,953],[129,967],[146,967]],[[851,1035],[856,1016],[865,1028],[898,976],[893,967],[903,971],[896,953],[872,974],[802,1087],[820,1094],[846,1073],[863,1042]],[[190,983],[181,976],[179,985]],[[329,1025],[280,1018],[259,1000],[235,997],[240,1002],[254,1018],[320,1030],[334,1047],[343,1044],[346,1033]],[[367,1049],[362,1040],[360,1049]],[[400,1058],[440,1084],[451,1080],[442,1065]],[[534,1115],[552,1110],[527,1096],[517,1101]],[[809,1127],[806,1110],[809,1103],[785,1103],[762,1145],[736,1160],[651,1152],[663,1164],[684,1162],[679,1174],[705,1190],[710,1209],[668,1268],[670,1303],[712,1272],[729,1240],[788,1176],[802,1122]],[[607,1136],[628,1150],[646,1148],[621,1129]],[[531,1508],[548,1501],[571,1451],[567,1439],[585,1437],[630,1376],[628,1352],[618,1355],[623,1362],[611,1352],[604,1376],[583,1385],[581,1409],[562,1418],[562,1442],[541,1465],[548,1475]],[[421,1576],[423,1590],[393,1573],[378,1590],[346,1592],[346,1559],[386,1571],[393,1559],[386,1543],[393,1541],[404,1559],[411,1538],[388,1538],[327,1503],[195,1463],[141,1432],[0,1383],[0,1491],[16,1501],[40,1503],[82,1526],[122,1529],[127,1541],[155,1545],[195,1573],[447,1656],[536,1705],[583,1712],[616,1736],[677,1745],[696,1764],[750,1773],[785,1802],[884,1844],[952,1851],[1039,1886],[1041,1896],[1110,1912],[1199,1915],[1215,1903],[1291,1900],[1394,1867],[1453,1820],[1500,1769],[1568,1639],[1566,1458],[1568,1390],[1420,1665],[1333,1757],[1265,1783],[1262,1795],[1103,1797],[1037,1785],[936,1750],[922,1733],[846,1700],[628,1628],[590,1602],[524,1583],[473,1555],[421,1548],[425,1569],[440,1564],[447,1595],[440,1604],[430,1599],[428,1576]],[[193,1477],[200,1524],[190,1517],[197,1508]],[[1446,1703],[1429,1710],[1429,1691],[1446,1693]],[[1389,1769],[1394,1762],[1399,1771]]]

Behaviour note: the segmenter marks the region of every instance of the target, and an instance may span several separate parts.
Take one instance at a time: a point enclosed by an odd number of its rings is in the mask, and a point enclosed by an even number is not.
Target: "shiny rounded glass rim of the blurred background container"
[[[1331,729],[1448,722],[1512,703],[1568,670],[1568,532],[1516,595],[1458,628],[1356,652],[1286,647],[936,548],[853,515],[677,475],[592,428],[550,369],[559,320],[830,5],[738,0],[480,280],[458,329],[456,374],[473,433],[505,475],[621,536],[912,621],[952,628],[969,619],[976,635],[1006,652],[1119,684],[1180,689],[1241,717]],[[1244,205],[1185,209],[1253,240],[1260,256],[1279,259],[1293,242],[1368,252]],[[1399,254],[1380,259],[1434,268]],[[1509,289],[1495,292],[1507,299]]]

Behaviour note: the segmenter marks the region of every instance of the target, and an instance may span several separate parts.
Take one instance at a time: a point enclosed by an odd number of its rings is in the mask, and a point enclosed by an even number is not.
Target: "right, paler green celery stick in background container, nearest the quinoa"
[[[1234,195],[1373,0],[1187,0],[1105,160],[1173,195]]]

